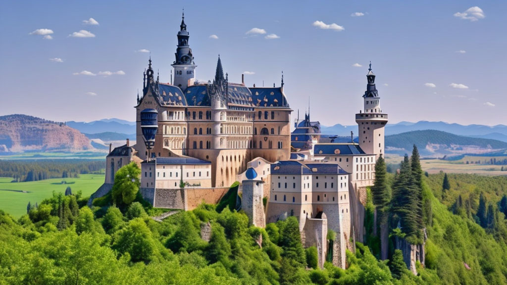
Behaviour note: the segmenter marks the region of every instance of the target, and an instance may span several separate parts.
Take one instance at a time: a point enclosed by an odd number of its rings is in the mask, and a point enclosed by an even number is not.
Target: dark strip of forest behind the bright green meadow
[[[104,161],[98,160],[0,160],[0,177],[13,177],[13,182],[79,177],[79,174],[103,173],[104,169]]]

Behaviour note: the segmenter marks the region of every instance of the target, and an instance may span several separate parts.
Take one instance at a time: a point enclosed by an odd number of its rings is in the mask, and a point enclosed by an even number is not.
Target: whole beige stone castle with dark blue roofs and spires
[[[295,216],[304,245],[317,246],[320,266],[331,229],[337,233],[333,263],[344,267],[349,240],[363,239],[366,187],[373,185],[375,162],[384,154],[387,114],[371,63],[364,109],[355,114],[358,143],[319,143],[320,125],[309,114],[291,136],[283,76],[280,87],[230,83],[219,56],[213,81],[197,81],[184,17],[177,39],[174,83],[155,78],[150,58],[135,106],[136,144],[127,140],[110,149],[104,185],[90,201],[110,191],[116,171],[131,161],[141,166],[140,192],[155,207],[187,210],[216,203],[239,181],[241,208],[251,224],[264,227]],[[147,110],[158,119],[151,150],[141,130]]]

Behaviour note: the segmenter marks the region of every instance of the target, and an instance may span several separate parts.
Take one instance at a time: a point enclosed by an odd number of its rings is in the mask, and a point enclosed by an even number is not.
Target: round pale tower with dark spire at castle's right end
[[[368,69],[368,84],[364,98],[364,110],[355,114],[355,121],[359,126],[359,146],[367,154],[375,154],[377,158],[384,154],[384,127],[387,114],[382,113],[380,97],[375,87],[375,74],[372,63]]]

